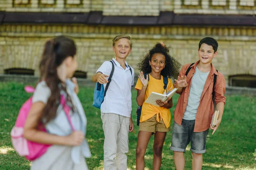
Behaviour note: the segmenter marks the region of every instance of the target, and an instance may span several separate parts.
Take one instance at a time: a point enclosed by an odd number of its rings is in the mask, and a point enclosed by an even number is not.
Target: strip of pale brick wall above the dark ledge
[[[255,0],[0,0],[0,11],[89,12],[104,15],[256,14]]]

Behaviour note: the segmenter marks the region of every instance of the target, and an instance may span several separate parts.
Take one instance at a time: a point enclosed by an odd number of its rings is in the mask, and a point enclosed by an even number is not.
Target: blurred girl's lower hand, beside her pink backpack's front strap
[[[82,131],[74,131],[67,137],[67,145],[79,146],[84,141],[84,133]]]

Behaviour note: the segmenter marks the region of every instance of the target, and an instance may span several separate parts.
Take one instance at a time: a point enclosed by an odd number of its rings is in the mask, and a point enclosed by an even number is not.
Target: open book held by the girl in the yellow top
[[[157,99],[161,99],[161,100],[163,100],[165,102],[168,99],[168,97],[172,98],[172,96],[175,94],[176,91],[177,91],[177,88],[174,88],[174,89],[169,90],[167,92],[165,90],[163,94],[152,92],[148,96],[148,99],[146,99],[145,103],[148,103],[148,104],[151,104],[151,105],[155,105],[155,106],[159,106],[156,103]]]

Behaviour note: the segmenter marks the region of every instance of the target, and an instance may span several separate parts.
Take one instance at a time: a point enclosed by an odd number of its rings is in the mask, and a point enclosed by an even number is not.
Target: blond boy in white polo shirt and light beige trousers
[[[113,39],[112,59],[114,73],[108,91],[101,105],[104,140],[104,170],[126,170],[128,152],[128,134],[134,129],[131,119],[131,87],[134,85],[134,69],[125,61],[130,54],[132,43],[130,36],[117,35]],[[105,61],[93,76],[93,82],[108,82],[112,63]]]

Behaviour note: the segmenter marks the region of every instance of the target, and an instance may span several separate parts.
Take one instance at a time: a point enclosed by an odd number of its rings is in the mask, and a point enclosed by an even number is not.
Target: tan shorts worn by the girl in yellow
[[[159,115],[159,122],[157,122],[157,114],[155,114],[150,119],[140,122],[139,131],[146,131],[146,132],[169,132],[171,130],[170,127],[166,128],[163,120],[161,120]]]

